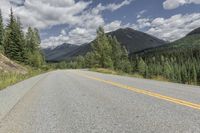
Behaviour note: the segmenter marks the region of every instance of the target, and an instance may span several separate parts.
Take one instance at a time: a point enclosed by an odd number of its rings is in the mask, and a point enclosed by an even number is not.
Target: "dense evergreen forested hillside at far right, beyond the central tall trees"
[[[170,81],[200,84],[200,34],[188,36],[131,55],[133,68],[147,78],[162,76]]]

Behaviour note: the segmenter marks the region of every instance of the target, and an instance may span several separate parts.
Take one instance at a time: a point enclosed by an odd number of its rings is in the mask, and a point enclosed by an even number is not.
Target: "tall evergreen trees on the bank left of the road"
[[[7,25],[3,24],[0,11],[0,52],[8,58],[33,67],[40,67],[44,63],[44,56],[40,49],[40,35],[36,28],[29,27],[23,32],[19,18],[15,18],[10,10]]]

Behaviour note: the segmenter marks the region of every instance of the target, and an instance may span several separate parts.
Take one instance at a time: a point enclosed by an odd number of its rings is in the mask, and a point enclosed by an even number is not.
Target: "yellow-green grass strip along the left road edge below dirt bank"
[[[43,72],[43,70],[33,69],[29,69],[27,74],[0,72],[0,90]]]

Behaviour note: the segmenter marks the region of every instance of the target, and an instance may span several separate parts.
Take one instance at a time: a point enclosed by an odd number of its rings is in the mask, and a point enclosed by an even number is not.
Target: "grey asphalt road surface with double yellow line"
[[[0,133],[200,133],[200,87],[83,70],[39,78]]]

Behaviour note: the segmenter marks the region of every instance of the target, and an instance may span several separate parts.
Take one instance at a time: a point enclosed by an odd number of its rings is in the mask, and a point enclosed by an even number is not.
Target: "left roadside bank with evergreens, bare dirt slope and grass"
[[[10,19],[4,25],[0,11],[0,89],[49,69],[40,43],[36,28],[29,27],[26,33],[23,32],[12,9]]]

